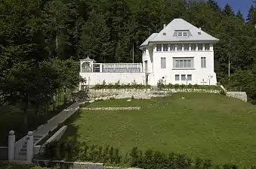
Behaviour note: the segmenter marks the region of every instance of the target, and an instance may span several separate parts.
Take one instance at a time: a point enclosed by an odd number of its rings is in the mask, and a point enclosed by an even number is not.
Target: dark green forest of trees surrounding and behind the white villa
[[[78,61],[87,55],[132,62],[134,47],[134,62],[141,62],[140,44],[174,18],[221,40],[214,47],[218,82],[255,100],[255,2],[242,14],[214,0],[2,0],[1,101],[40,108],[58,89],[76,88]]]

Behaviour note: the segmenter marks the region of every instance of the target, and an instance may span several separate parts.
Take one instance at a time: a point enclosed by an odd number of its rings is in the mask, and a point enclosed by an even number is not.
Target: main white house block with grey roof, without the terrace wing
[[[147,82],[216,85],[214,44],[217,38],[182,19],[172,20],[140,45]]]

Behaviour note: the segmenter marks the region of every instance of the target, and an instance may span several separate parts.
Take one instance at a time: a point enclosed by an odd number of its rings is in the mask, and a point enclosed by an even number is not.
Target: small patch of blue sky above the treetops
[[[243,16],[246,18],[248,14],[248,9],[250,8],[252,2],[251,0],[216,0],[218,5],[223,8],[227,3],[229,3],[235,12],[241,11]]]

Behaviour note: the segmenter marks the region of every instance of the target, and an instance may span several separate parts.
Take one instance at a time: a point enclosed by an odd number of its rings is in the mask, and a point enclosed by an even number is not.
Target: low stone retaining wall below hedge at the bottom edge
[[[103,163],[93,162],[67,162],[67,161],[48,161],[48,160],[34,160],[34,164],[42,167],[60,166],[60,169],[122,169],[121,167],[104,167]],[[123,168],[125,169],[125,168]],[[126,169],[140,169],[140,168],[126,168]]]

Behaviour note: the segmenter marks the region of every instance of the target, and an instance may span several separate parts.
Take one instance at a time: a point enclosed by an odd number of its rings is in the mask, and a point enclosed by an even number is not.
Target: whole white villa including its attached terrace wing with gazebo
[[[216,85],[214,44],[217,41],[185,20],[172,20],[140,45],[142,64],[80,60],[80,75],[86,80],[80,87],[103,81],[106,84],[119,81],[156,86],[160,79],[166,84]]]

